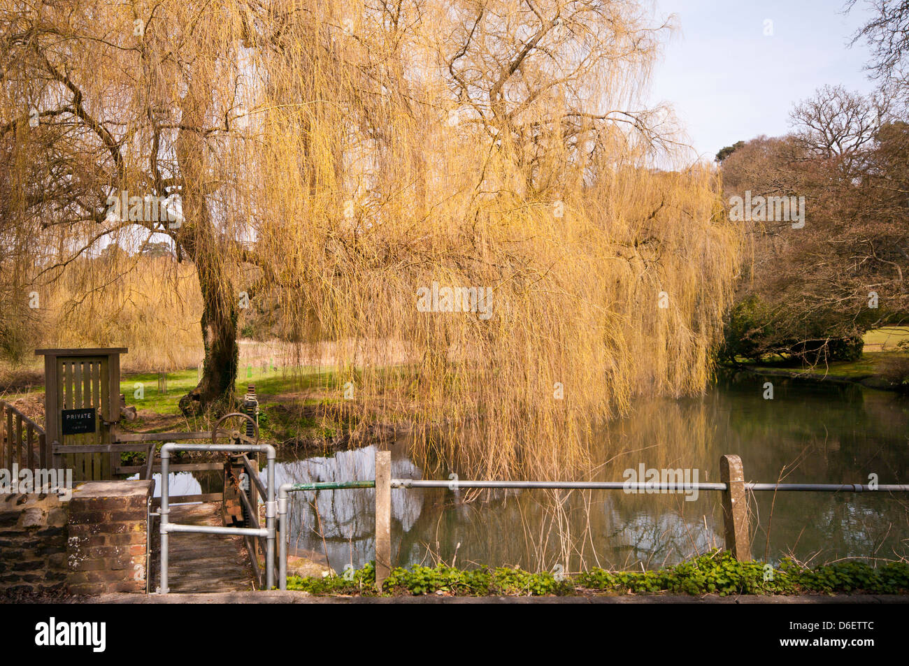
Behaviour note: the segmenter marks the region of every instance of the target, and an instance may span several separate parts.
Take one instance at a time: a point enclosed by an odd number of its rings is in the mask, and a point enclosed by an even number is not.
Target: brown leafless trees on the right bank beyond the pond
[[[802,228],[745,223],[754,255],[731,333],[746,339],[739,351],[814,362],[909,313],[909,135],[874,99],[839,86],[795,104],[791,118],[793,134],[759,137],[723,162],[726,195],[804,197]]]

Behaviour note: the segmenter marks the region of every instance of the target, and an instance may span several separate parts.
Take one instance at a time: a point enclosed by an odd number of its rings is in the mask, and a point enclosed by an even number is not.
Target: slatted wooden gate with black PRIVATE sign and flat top
[[[119,464],[110,444],[120,420],[120,354],[126,352],[123,347],[35,350],[45,357],[46,438],[55,444],[55,467],[71,468],[74,481],[112,479]],[[66,453],[67,446],[96,450]]]

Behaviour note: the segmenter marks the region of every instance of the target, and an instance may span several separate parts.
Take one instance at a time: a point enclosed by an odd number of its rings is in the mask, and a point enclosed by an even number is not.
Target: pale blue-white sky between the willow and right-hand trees
[[[858,0],[656,0],[678,30],[654,71],[651,102],[672,104],[697,153],[789,131],[793,104],[824,84],[870,93],[866,45],[849,46],[869,13]],[[767,23],[767,22],[772,23]],[[764,33],[771,33],[764,35]]]

